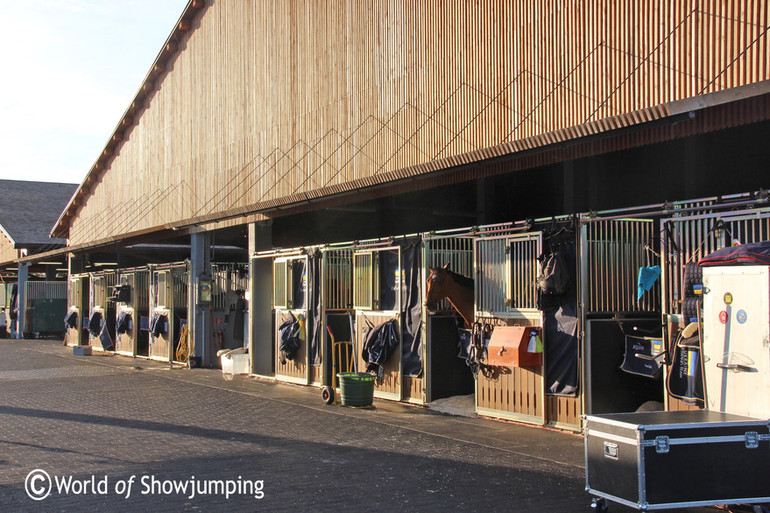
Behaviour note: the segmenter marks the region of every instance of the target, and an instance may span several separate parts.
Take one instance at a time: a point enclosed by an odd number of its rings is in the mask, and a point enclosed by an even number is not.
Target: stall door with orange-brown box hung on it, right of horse
[[[508,336],[508,327],[531,327],[533,340],[544,334],[537,309],[535,283],[539,274],[538,255],[542,236],[533,233],[479,235],[475,241],[476,321],[491,332],[486,362],[476,376],[476,411],[482,415],[521,422],[546,421],[542,354],[503,363],[521,350],[542,352],[538,344]],[[497,331],[497,333],[495,333]],[[534,337],[532,337],[534,333]],[[496,339],[500,346],[495,345]],[[523,345],[522,345],[523,344]],[[547,340],[545,340],[547,347]],[[530,345],[532,347],[530,347]],[[494,347],[494,349],[493,349]]]

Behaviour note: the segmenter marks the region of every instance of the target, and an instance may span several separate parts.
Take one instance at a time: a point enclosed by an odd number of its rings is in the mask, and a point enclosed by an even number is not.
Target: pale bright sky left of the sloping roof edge
[[[0,179],[77,183],[187,0],[0,0]]]

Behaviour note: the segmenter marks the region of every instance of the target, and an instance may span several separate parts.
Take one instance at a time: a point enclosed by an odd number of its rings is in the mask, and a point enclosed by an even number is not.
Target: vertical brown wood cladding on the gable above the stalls
[[[213,0],[76,205],[70,244],[341,192],[766,80],[767,11],[766,0]]]

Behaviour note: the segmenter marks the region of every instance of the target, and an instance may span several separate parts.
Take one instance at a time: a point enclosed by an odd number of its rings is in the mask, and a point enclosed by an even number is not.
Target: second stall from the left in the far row
[[[88,309],[89,344],[104,351],[115,349],[115,302],[113,287],[117,284],[117,271],[100,271],[90,274]]]

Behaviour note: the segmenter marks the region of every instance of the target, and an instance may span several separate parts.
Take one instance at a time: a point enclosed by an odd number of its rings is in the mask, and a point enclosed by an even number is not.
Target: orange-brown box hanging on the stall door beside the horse
[[[541,328],[495,326],[487,347],[487,364],[499,367],[541,367]]]

